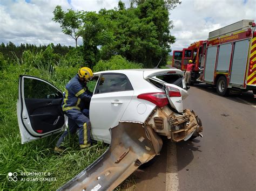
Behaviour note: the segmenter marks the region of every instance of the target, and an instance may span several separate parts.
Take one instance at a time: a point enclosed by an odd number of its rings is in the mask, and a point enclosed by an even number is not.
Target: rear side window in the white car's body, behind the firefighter
[[[97,84],[96,94],[133,90],[130,81],[123,74],[103,74]]]

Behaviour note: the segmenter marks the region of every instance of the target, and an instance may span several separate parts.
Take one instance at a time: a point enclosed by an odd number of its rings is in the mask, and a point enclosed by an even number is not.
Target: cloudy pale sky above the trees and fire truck
[[[129,0],[123,2],[129,7]],[[0,0],[0,43],[75,46],[75,40],[52,21],[56,5],[63,10],[97,12],[117,7],[118,0]],[[210,31],[220,27],[242,19],[256,21],[256,0],[183,0],[170,11],[169,18],[174,25],[171,34],[176,37],[171,49],[179,50],[206,40]]]

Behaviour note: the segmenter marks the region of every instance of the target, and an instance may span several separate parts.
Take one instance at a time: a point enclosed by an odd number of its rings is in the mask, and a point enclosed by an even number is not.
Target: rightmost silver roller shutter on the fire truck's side
[[[245,80],[250,40],[237,41],[234,44],[230,83],[242,86]]]

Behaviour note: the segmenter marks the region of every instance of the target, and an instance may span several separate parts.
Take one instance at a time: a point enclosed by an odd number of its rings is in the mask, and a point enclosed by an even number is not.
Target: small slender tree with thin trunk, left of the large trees
[[[76,47],[77,39],[80,37],[79,28],[82,24],[80,13],[80,11],[74,11],[72,9],[68,9],[68,11],[65,12],[60,5],[57,5],[53,11],[54,17],[52,18],[53,21],[60,24],[64,34],[68,34],[76,41]]]

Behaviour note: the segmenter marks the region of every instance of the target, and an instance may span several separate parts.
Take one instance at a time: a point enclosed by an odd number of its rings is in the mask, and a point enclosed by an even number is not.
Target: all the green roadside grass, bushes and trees
[[[93,72],[111,69],[152,68],[160,59],[165,68],[174,37],[169,22],[169,11],[178,0],[137,0],[125,8],[96,12],[63,11],[57,6],[53,20],[60,23],[65,34],[83,45],[67,47],[50,44],[35,46],[14,43],[0,46],[0,188],[1,190],[56,190],[90,165],[107,149],[97,143],[80,150],[78,137],[70,136],[62,155],[53,153],[60,135],[49,136],[28,144],[21,144],[16,102],[19,75],[32,75],[51,82],[60,90],[81,66]],[[95,83],[89,83],[93,91]],[[57,181],[8,181],[8,172],[49,172],[47,178]],[[18,177],[19,180],[23,177]],[[44,176],[35,178],[46,178]],[[134,180],[127,179],[117,190],[130,187]]]

